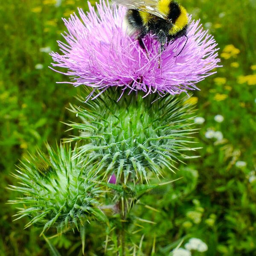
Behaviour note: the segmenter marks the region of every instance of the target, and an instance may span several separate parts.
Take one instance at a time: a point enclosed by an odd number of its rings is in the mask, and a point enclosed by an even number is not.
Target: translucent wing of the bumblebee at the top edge
[[[112,0],[114,3],[125,6],[128,9],[136,9],[142,12],[151,13],[164,20],[168,20],[168,17],[161,13],[158,8],[158,0]]]

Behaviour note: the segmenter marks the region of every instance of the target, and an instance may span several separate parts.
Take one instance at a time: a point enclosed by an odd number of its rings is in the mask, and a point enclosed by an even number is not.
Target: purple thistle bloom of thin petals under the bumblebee
[[[190,21],[188,42],[182,51],[186,37],[171,42],[160,54],[154,35],[145,37],[146,51],[138,40],[127,35],[122,25],[124,7],[100,1],[96,11],[88,5],[87,14],[79,9],[80,18],[74,14],[63,19],[68,30],[63,35],[67,43],[58,41],[63,54],[51,53],[52,66],[67,68],[64,74],[73,77],[70,83],[74,86],[84,84],[101,90],[100,93],[108,87],[122,87],[122,94],[128,89],[130,93],[143,90],[146,95],[174,95],[198,89],[195,84],[219,67],[217,44],[199,20]]]

